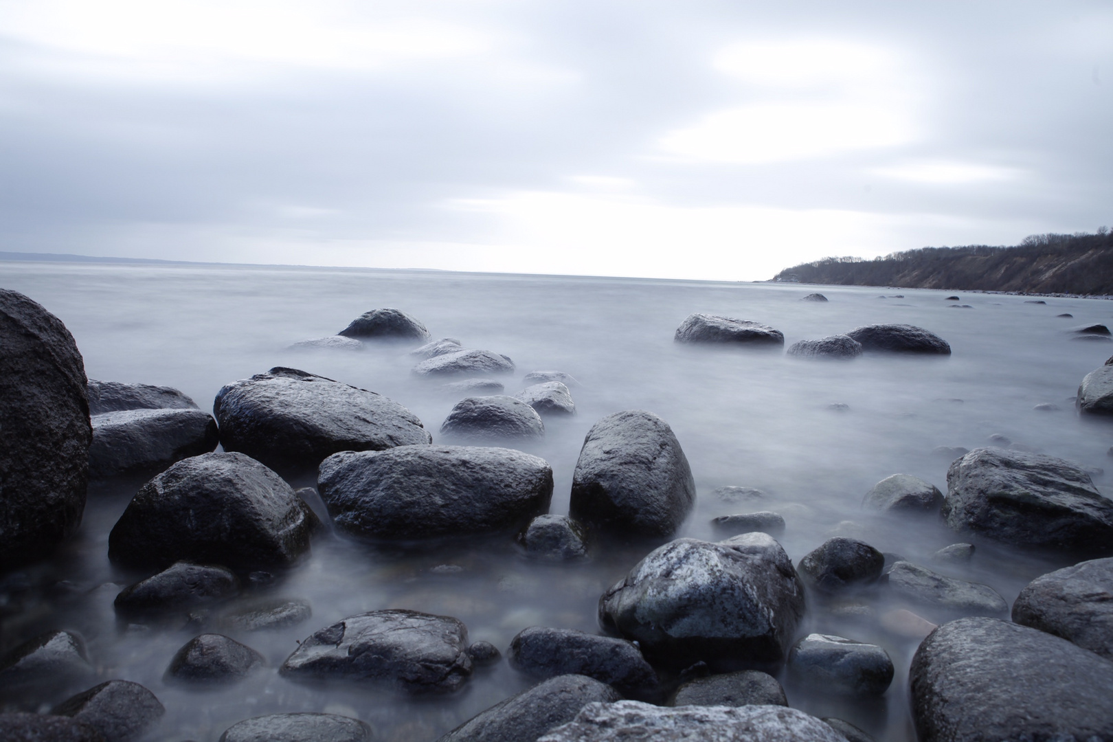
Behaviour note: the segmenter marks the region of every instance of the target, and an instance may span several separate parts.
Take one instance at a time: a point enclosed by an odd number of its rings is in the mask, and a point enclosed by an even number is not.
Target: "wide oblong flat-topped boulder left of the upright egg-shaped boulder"
[[[317,489],[342,531],[427,538],[519,528],[549,509],[553,478],[510,448],[402,446],[329,456]]]

